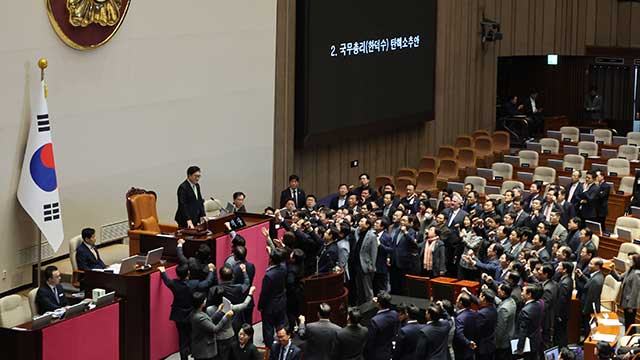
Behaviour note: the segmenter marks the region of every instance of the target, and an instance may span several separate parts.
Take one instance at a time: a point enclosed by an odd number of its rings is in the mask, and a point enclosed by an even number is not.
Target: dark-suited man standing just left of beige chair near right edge
[[[586,281],[582,294],[580,295],[580,304],[582,305],[582,325],[584,336],[587,338],[591,332],[589,321],[591,315],[600,312],[600,295],[604,285],[604,275],[602,274],[603,261],[599,257],[592,258],[589,261],[589,277],[580,269],[576,269],[576,277],[582,281]],[[595,312],[594,312],[595,309]]]

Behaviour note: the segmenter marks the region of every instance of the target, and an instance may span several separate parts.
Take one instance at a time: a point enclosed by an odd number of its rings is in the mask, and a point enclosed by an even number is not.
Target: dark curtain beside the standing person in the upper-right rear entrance
[[[633,67],[591,65],[589,68],[591,85],[598,88],[602,96],[602,118],[619,135],[625,135],[633,128]],[[589,91],[585,89],[584,94]]]

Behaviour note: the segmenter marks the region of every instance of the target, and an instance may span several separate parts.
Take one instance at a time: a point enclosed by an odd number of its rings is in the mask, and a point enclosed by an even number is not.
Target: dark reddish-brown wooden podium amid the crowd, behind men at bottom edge
[[[331,321],[340,326],[347,325],[349,290],[344,287],[344,272],[312,275],[302,279],[304,304],[302,314],[307,323],[318,321],[318,306],[331,306]]]

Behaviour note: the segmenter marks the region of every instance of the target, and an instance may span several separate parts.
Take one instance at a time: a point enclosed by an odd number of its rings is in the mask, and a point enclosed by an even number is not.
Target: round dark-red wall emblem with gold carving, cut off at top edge
[[[107,43],[118,31],[130,0],[45,0],[51,26],[60,39],[78,50]]]

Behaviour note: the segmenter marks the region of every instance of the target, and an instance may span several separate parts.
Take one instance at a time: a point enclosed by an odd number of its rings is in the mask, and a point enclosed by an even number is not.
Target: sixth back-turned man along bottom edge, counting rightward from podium
[[[478,314],[471,310],[471,296],[465,292],[460,293],[456,305],[460,310],[455,320],[453,352],[456,360],[473,360],[478,348]]]

